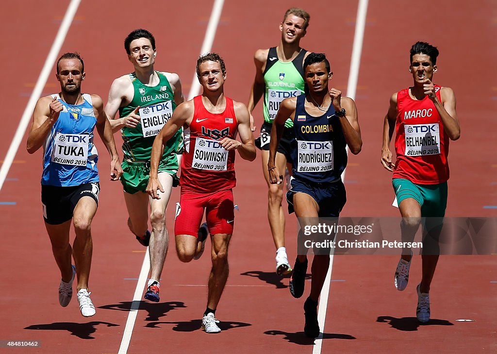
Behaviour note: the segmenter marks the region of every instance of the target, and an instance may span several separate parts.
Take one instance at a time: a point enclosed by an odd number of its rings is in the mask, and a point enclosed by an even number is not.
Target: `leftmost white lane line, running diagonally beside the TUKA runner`
[[[38,81],[31,93],[31,97],[29,97],[28,104],[24,109],[24,113],[22,113],[21,120],[19,121],[19,125],[17,126],[17,130],[15,131],[14,138],[10,143],[10,147],[8,148],[7,155],[3,160],[3,164],[0,168],[0,190],[3,186],[3,182],[7,177],[8,171],[10,170],[10,166],[12,165],[12,161],[14,161],[15,154],[17,153],[17,149],[19,149],[19,145],[22,142],[22,138],[24,137],[24,133],[26,132],[26,128],[31,119],[31,114],[33,114],[34,106],[36,105],[36,101],[40,98],[41,92],[45,87],[48,79],[48,75],[50,74],[50,70],[59,55],[59,52],[62,48],[62,44],[64,44],[64,40],[66,39],[67,32],[69,31],[69,27],[73,22],[74,15],[78,10],[81,0],[71,0],[69,4],[66,14],[64,15],[64,19],[62,20],[61,26],[59,27],[59,31],[55,36],[54,43],[52,44],[52,48],[50,48],[50,52],[48,52],[47,59],[45,60],[45,64],[43,65],[43,69],[40,72],[40,76],[38,77]]]

